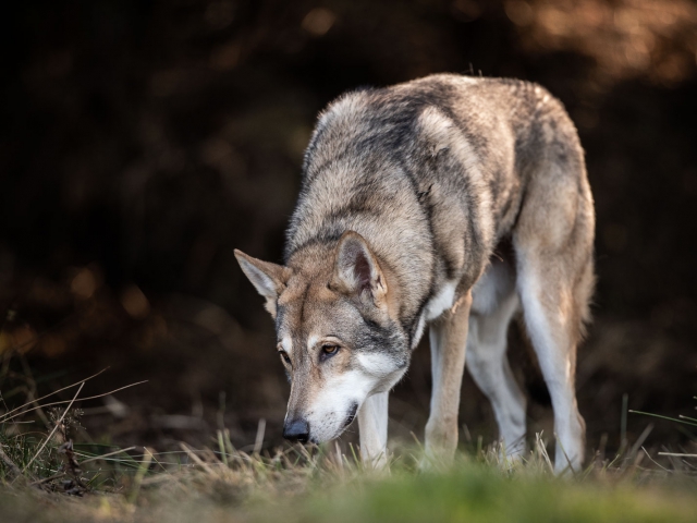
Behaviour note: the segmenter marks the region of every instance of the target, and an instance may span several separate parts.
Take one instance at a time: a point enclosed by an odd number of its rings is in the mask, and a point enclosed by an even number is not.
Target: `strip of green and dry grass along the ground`
[[[366,471],[331,445],[242,452],[222,429],[208,448],[170,452],[73,443],[72,400],[30,392],[0,414],[2,522],[693,522],[694,455],[649,455],[643,440],[580,474],[557,477],[538,436],[521,461],[490,447],[451,465],[419,466],[420,449],[398,449],[390,472]],[[44,421],[32,430],[28,421]],[[682,423],[694,419],[682,418]],[[672,461],[670,461],[672,460]],[[690,461],[692,460],[692,461]],[[690,464],[692,463],[692,464]]]

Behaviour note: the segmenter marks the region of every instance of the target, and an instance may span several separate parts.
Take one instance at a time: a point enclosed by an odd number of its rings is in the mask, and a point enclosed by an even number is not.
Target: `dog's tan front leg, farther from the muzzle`
[[[431,369],[433,390],[431,412],[426,424],[426,455],[452,460],[457,447],[457,411],[465,370],[465,350],[472,293],[431,324]]]

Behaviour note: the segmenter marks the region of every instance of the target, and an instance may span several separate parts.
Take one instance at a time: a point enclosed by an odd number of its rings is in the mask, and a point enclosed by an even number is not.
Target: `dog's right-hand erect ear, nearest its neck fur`
[[[363,303],[387,306],[388,282],[368,242],[354,231],[339,240],[332,287]]]

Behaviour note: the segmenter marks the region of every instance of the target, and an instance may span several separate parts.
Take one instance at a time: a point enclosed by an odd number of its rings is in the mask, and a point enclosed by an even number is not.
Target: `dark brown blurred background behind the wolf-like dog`
[[[236,445],[288,385],[233,248],[281,260],[314,119],[342,92],[435,72],[513,76],[558,96],[587,153],[595,323],[579,350],[589,448],[629,409],[693,415],[697,393],[697,4],[690,0],[35,1],[0,19],[0,390],[10,404],[86,377],[86,434]],[[511,333],[533,430],[545,386]],[[392,434],[423,435],[419,348]],[[72,392],[63,393],[71,398]],[[224,396],[224,401],[223,401]],[[29,396],[30,398],[30,396]],[[463,441],[490,442],[467,378]],[[627,438],[650,419],[629,414]],[[649,446],[689,435],[658,422]]]

